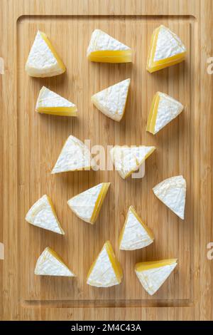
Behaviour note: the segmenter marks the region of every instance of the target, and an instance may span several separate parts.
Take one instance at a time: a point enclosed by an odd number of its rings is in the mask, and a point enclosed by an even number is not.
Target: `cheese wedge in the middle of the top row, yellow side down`
[[[87,48],[87,58],[89,61],[102,63],[129,63],[132,51],[129,46],[125,46],[104,31],[95,29]]]

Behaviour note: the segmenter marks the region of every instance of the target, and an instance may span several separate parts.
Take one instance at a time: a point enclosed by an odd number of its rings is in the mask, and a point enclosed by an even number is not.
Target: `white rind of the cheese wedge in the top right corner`
[[[160,26],[153,61],[160,61],[186,51],[180,38],[165,26]]]

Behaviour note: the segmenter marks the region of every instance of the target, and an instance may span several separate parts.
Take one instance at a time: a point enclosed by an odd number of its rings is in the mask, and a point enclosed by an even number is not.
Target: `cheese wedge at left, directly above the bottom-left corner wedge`
[[[48,195],[43,195],[43,197],[40,197],[40,199],[35,202],[28,211],[25,219],[36,227],[51,230],[51,232],[57,232],[62,235],[65,234],[62,227],[60,227],[53,202]]]

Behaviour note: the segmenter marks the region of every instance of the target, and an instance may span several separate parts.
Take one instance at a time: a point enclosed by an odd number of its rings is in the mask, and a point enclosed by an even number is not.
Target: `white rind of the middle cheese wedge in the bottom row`
[[[119,283],[114,268],[109,259],[107,248],[104,246],[87,278],[87,284],[94,287],[111,287]]]

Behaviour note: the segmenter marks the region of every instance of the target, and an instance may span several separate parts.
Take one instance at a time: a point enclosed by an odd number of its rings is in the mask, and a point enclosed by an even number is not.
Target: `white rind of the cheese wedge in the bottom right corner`
[[[163,267],[156,267],[147,269],[141,272],[136,271],[136,275],[148,294],[153,295],[160,289],[161,285],[173,272],[177,263],[164,265]]]

